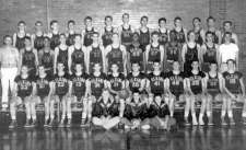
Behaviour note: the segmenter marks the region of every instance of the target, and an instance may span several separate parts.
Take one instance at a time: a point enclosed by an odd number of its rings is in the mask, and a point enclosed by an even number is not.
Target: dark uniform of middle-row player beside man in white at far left
[[[28,74],[31,78],[35,78],[36,76],[36,57],[33,53],[33,49],[27,51],[24,49],[24,53],[22,54],[22,65],[27,66],[28,68]]]

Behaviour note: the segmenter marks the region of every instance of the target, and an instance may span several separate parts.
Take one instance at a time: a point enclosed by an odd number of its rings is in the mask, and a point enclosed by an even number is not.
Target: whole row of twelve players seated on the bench
[[[139,71],[140,67],[136,64],[132,73],[125,80],[124,76],[120,76],[118,72],[117,65],[113,65],[113,73],[106,77],[102,73],[99,64],[94,66],[94,71],[91,76],[85,76],[82,72],[81,65],[78,64],[75,66],[75,73],[69,77],[65,72],[63,65],[58,64],[58,72],[54,78],[47,76],[44,66],[39,66],[39,74],[33,80],[28,77],[27,67],[23,66],[21,74],[15,78],[15,92],[10,103],[12,117],[10,127],[14,127],[16,123],[16,105],[23,102],[26,108],[27,127],[31,126],[31,118],[33,119],[33,124],[36,124],[35,105],[42,101],[45,102],[45,126],[48,126],[48,123],[52,125],[55,119],[54,105],[57,102],[61,103],[62,111],[60,126],[65,125],[63,120],[66,116],[69,120],[67,126],[71,125],[71,103],[78,101],[82,101],[83,103],[82,125],[85,124],[85,120],[89,124],[91,123],[91,118],[94,116],[93,113],[97,112],[97,106],[104,113],[105,111],[108,113],[110,107],[118,109],[118,112],[121,112],[119,113],[119,117],[122,118],[127,105],[127,101],[125,100],[128,99],[128,94],[124,94],[125,92],[122,91],[129,92],[130,97],[133,96],[133,93],[141,95],[139,96],[142,97],[141,101],[138,103],[133,102],[133,107],[145,104],[147,108],[143,108],[143,111],[147,111],[150,108],[150,104],[153,103],[157,106],[157,112],[160,113],[163,111],[163,106],[165,106],[164,112],[168,108],[168,116],[171,118],[174,116],[175,105],[185,103],[185,120],[187,125],[189,124],[189,112],[191,112],[192,125],[198,125],[198,123],[199,125],[203,125],[204,113],[209,117],[209,125],[212,125],[212,103],[221,101],[223,103],[221,113],[222,124],[225,124],[224,116],[227,112],[230,124],[234,125],[232,103],[239,102],[244,104],[242,116],[245,123],[245,86],[242,73],[235,70],[235,61],[227,61],[229,70],[223,72],[223,74],[218,72],[216,62],[210,64],[210,71],[208,73],[199,71],[198,60],[194,60],[191,67],[192,69],[189,73],[184,73],[179,70],[179,62],[175,61],[173,64],[173,71],[164,74],[161,71],[160,62],[155,61],[153,72],[145,76]],[[105,88],[108,89],[105,90],[106,93],[109,93],[107,95],[112,96],[105,96],[110,99],[104,103],[103,89]],[[201,103],[199,122],[197,122],[196,117],[195,103]],[[107,117],[103,117],[102,122],[112,123]],[[106,123],[102,125],[106,125]]]

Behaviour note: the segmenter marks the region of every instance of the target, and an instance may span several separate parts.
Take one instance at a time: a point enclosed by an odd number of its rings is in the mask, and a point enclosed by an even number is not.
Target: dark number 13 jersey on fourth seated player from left
[[[72,74],[72,92],[77,97],[82,97],[85,94],[86,90],[86,80],[89,76],[86,73],[82,73],[81,76]]]

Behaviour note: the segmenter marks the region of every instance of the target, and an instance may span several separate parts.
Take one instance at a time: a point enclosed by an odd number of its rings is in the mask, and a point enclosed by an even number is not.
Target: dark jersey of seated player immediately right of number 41
[[[184,80],[186,78],[184,72],[179,72],[178,74],[174,74],[173,71],[167,73],[167,78],[169,79],[169,91],[175,96],[179,96],[184,93]]]

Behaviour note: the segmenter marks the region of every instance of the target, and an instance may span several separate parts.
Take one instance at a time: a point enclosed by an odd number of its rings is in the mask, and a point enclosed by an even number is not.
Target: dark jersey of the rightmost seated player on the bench
[[[243,74],[238,71],[234,73],[224,72],[225,88],[233,94],[242,93],[239,80],[243,78]]]

